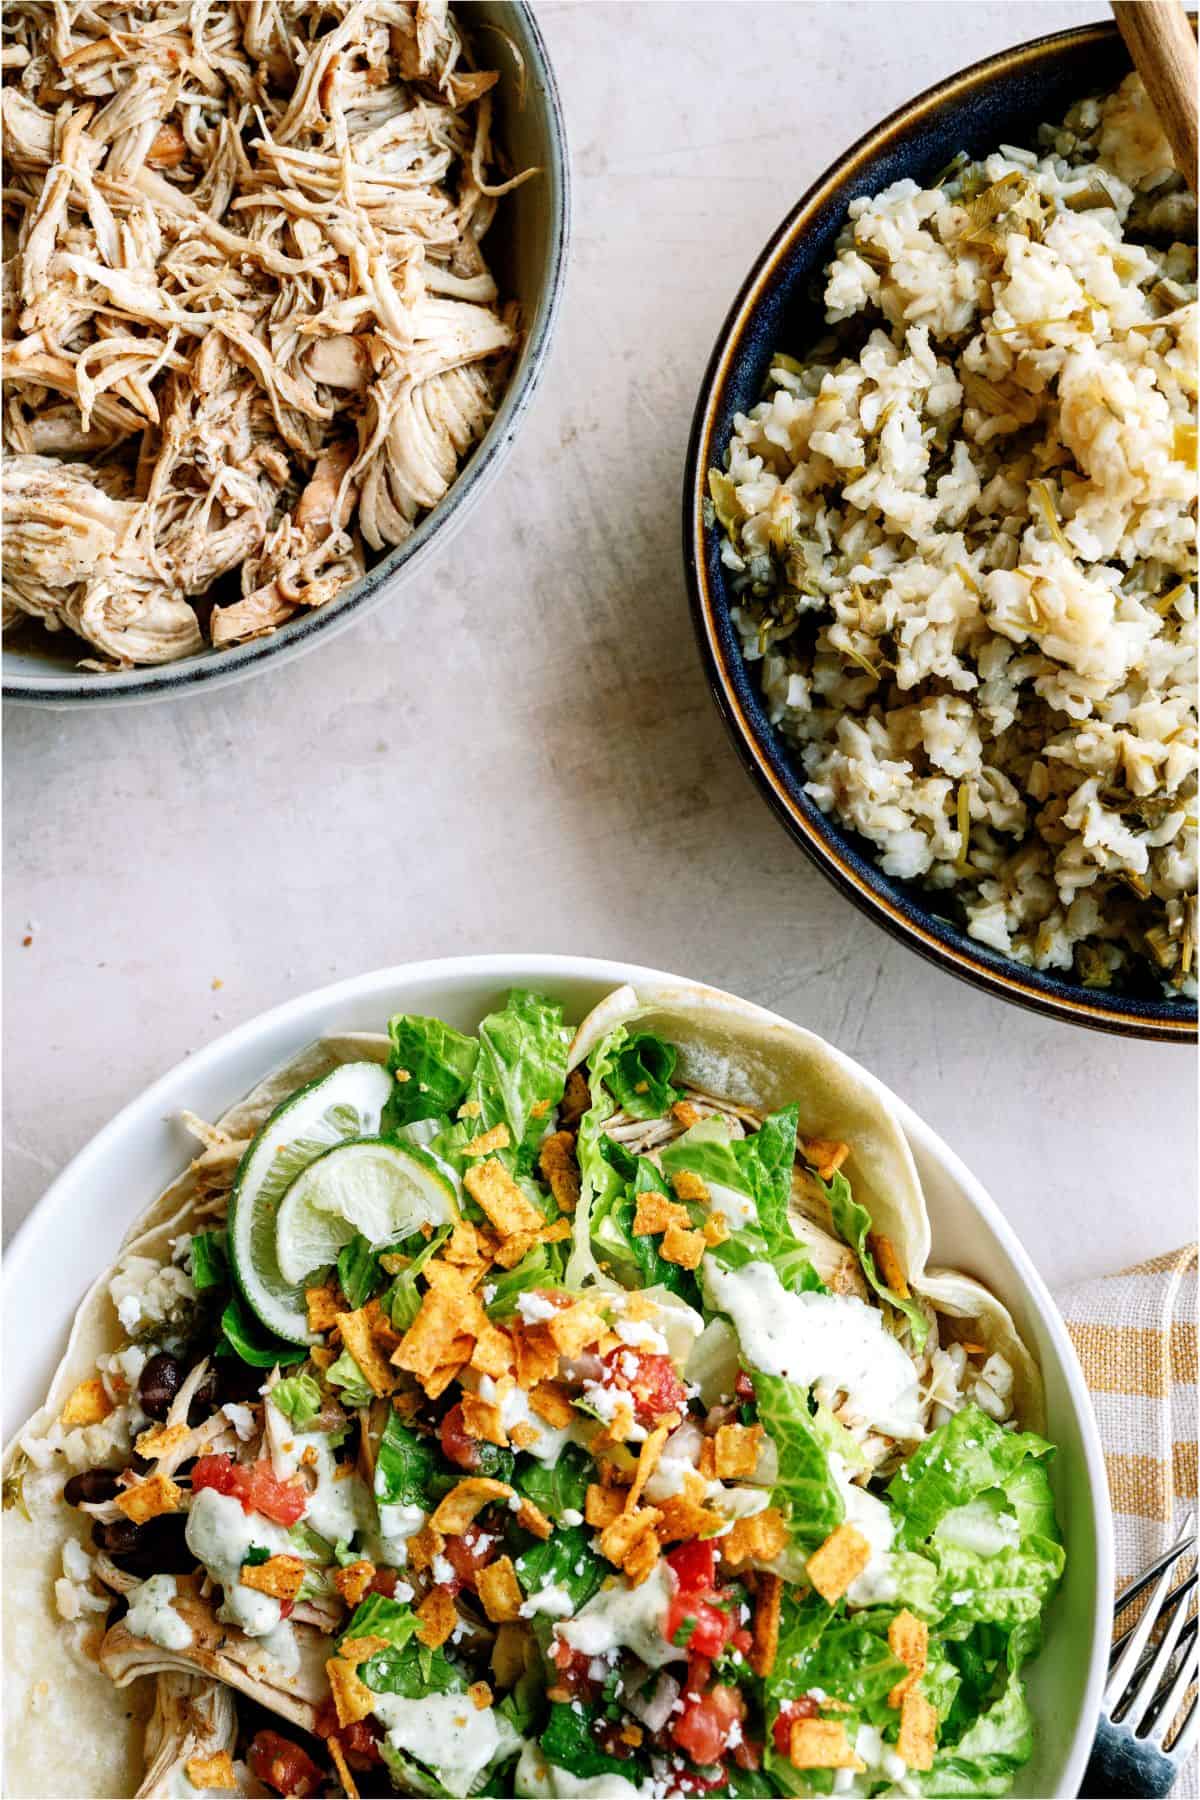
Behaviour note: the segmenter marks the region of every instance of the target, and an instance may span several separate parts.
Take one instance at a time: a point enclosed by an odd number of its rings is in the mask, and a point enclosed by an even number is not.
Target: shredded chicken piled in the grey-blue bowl
[[[491,88],[446,0],[5,0],[5,623],[169,662],[324,607],[482,436]]]

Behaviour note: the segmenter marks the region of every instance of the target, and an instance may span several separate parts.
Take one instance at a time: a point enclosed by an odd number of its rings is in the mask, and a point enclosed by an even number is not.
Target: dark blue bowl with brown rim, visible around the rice
[[[703,522],[707,472],[723,466],[734,414],[761,400],[775,351],[802,353],[826,329],[817,283],[851,200],[907,175],[927,182],[961,149],[982,157],[997,144],[1033,148],[1042,121],[1061,117],[1078,99],[1115,86],[1128,72],[1115,25],[1036,38],[928,88],[810,187],[750,270],[716,340],[687,448],[684,562],[709,684],[738,752],[792,837],[842,893],[910,949],[1000,999],[1126,1037],[1195,1040],[1195,1006],[1166,999],[1150,977],[1144,992],[1106,994],[975,943],[934,911],[930,893],[880,873],[873,846],[813,805],[766,716],[757,675],[741,655],[720,527]]]

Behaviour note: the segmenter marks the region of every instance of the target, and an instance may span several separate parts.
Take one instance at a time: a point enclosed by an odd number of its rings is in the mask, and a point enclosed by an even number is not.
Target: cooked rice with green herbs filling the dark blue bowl
[[[694,470],[698,560],[856,898],[1009,997],[1186,1022],[1195,200],[1137,76],[1036,117],[939,175],[880,128]]]

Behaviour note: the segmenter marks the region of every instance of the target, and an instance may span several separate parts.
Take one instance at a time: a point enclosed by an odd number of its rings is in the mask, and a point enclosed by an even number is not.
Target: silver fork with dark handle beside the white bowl
[[[1079,1789],[1087,1800],[1168,1795],[1196,1748],[1200,1706],[1195,1699],[1180,1717],[1184,1696],[1200,1676],[1200,1643],[1191,1611],[1195,1571],[1171,1588],[1175,1566],[1195,1548],[1196,1519],[1189,1512],[1171,1548],[1117,1600],[1119,1618],[1155,1584],[1142,1616],[1112,1645],[1092,1760]]]

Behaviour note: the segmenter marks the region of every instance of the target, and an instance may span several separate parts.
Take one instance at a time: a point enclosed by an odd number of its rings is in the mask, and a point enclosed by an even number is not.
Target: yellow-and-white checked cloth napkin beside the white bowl
[[[1054,1298],[1105,1445],[1121,1593],[1177,1539],[1196,1503],[1196,1246]],[[1189,1757],[1173,1795],[1198,1791]]]

